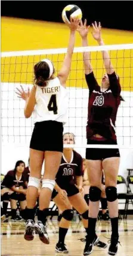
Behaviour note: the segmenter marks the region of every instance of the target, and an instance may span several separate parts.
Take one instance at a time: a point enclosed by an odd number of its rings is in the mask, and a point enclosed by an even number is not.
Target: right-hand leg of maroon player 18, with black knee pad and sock
[[[106,183],[106,196],[112,224],[112,237],[118,234],[118,201],[117,201],[117,174],[119,171],[119,157],[110,157],[103,160],[103,169]]]

